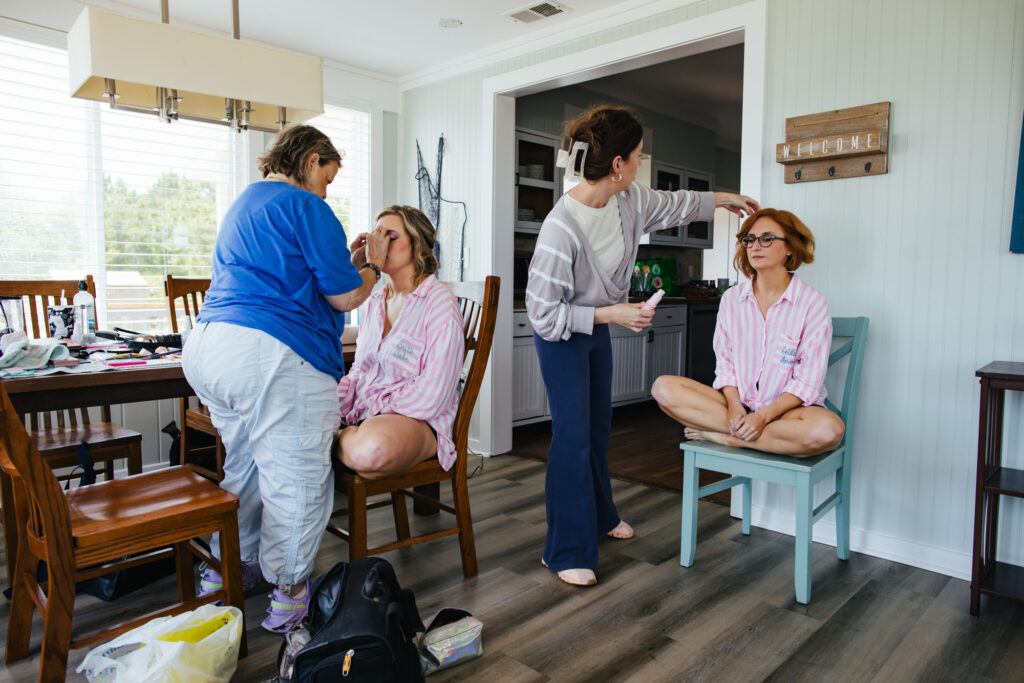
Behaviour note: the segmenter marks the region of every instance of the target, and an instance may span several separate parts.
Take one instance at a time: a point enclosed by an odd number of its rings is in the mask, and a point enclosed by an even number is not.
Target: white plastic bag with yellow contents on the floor
[[[90,683],[227,683],[241,643],[241,610],[203,605],[152,620],[93,648],[77,671]]]

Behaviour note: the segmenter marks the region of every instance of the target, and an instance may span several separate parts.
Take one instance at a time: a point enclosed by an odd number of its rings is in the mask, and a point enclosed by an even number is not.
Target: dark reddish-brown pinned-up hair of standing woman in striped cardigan
[[[590,145],[582,169],[583,177],[588,180],[600,180],[611,173],[615,157],[629,159],[642,139],[640,116],[629,106],[600,104],[565,124],[566,152],[572,151],[573,141]]]

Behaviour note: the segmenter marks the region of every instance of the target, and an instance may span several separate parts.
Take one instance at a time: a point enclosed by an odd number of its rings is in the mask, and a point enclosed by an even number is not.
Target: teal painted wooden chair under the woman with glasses
[[[825,399],[825,407],[846,424],[846,435],[839,447],[812,458],[773,456],[752,449],[734,449],[710,441],[683,441],[683,531],[679,563],[691,566],[697,543],[697,500],[733,486],[743,487],[742,532],[751,532],[751,480],[760,479],[794,486],[797,489],[797,602],[811,599],[811,527],[836,508],[836,552],[841,560],[850,557],[850,457],[856,426],[857,393],[860,369],[867,337],[866,317],[834,317],[833,336],[846,338],[828,356],[831,368],[850,356],[843,389],[843,409]],[[835,344],[834,344],[835,345]],[[697,486],[697,470],[713,470],[731,475],[724,481]],[[836,475],[836,493],[814,507],[814,484]]]

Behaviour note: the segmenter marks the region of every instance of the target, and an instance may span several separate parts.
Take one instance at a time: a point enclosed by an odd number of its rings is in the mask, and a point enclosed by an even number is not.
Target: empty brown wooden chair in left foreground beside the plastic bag
[[[40,681],[62,681],[68,651],[114,638],[158,616],[221,600],[243,611],[239,499],[184,467],[60,489],[0,383],[0,467],[13,483],[17,552],[14,559],[4,661],[29,654],[32,614],[43,617]],[[220,533],[221,560],[196,541]],[[224,578],[223,588],[196,597],[191,555]],[[99,631],[72,637],[75,583],[174,557],[177,602]],[[46,563],[47,581],[37,577]],[[243,624],[242,655],[246,652]]]

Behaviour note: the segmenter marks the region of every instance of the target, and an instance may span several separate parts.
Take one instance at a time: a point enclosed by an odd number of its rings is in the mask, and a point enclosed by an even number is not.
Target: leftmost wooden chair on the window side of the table
[[[86,275],[89,294],[95,299],[96,286]],[[26,332],[33,339],[49,336],[46,307],[70,305],[78,292],[76,280],[0,281],[0,297],[20,297],[26,315]],[[111,407],[99,405],[99,421],[89,418],[89,409],[32,413],[27,416],[36,449],[52,469],[75,467],[80,463],[79,445],[85,443],[93,462],[103,465],[104,478],[114,478],[114,465],[124,460],[129,474],[142,471],[142,435],[116,424]],[[65,474],[67,479],[74,474]]]

